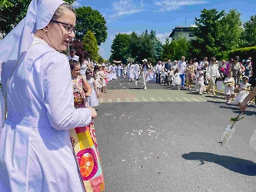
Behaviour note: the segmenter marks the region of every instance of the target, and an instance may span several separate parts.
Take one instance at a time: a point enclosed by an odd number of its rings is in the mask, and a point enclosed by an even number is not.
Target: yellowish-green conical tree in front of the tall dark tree
[[[98,44],[93,32],[87,31],[81,42],[85,50],[88,51],[88,57],[93,61],[98,61]]]

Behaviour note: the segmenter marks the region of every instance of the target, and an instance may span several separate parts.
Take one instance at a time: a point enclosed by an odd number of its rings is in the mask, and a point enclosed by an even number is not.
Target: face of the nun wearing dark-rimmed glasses
[[[75,13],[72,12],[70,9],[66,9],[62,17],[57,19],[57,22],[62,22],[70,25],[71,29],[75,28]],[[69,31],[67,31],[67,25],[50,22],[45,28],[47,30],[48,38],[52,42],[55,49],[58,51],[67,50],[69,42],[72,38],[75,38],[75,34],[73,31],[71,32],[71,34],[69,34]]]

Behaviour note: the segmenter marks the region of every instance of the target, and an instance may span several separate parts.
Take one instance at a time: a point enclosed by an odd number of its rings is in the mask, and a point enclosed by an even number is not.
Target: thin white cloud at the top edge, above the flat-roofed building
[[[175,11],[185,5],[201,5],[205,4],[207,1],[204,0],[162,0],[161,2],[156,1],[155,5],[161,8],[158,12]]]

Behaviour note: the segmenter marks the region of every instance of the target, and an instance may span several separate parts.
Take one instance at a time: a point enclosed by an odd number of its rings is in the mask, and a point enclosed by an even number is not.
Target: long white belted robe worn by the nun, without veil
[[[23,56],[8,84],[0,132],[0,191],[83,191],[69,129],[91,122],[75,109],[68,58],[44,41]],[[34,41],[34,42],[35,42]],[[14,63],[2,65],[2,85]]]

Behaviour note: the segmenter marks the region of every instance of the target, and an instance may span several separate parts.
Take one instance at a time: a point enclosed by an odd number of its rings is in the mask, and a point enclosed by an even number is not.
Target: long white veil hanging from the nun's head
[[[19,22],[8,35],[0,41],[0,62],[15,68],[22,54],[30,48],[34,40],[35,31],[45,28],[51,21],[57,8],[64,4],[62,0],[32,0],[28,11],[22,22]],[[4,72],[4,71],[2,71]],[[5,84],[6,85],[6,84]],[[0,94],[0,110],[2,119],[0,126],[3,126],[5,119],[5,104],[3,95]]]

